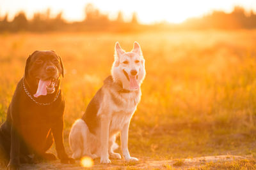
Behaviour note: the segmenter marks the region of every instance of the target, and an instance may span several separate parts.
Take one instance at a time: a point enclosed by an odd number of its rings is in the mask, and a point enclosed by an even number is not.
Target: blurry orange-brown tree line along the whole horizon
[[[67,22],[60,12],[54,18],[50,17],[51,10],[45,13],[34,13],[28,20],[26,14],[20,11],[13,20],[8,21],[8,14],[0,18],[0,31],[163,31],[175,29],[255,29],[256,15],[253,11],[246,13],[239,6],[231,13],[213,11],[201,18],[190,18],[182,24],[159,23],[143,25],[138,22],[136,13],[132,14],[129,22],[124,21],[122,11],[118,12],[115,20],[110,20],[107,14],[103,14],[92,4],[85,8],[85,18],[81,22]]]

